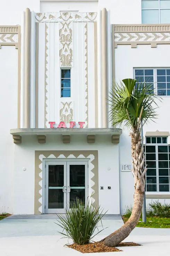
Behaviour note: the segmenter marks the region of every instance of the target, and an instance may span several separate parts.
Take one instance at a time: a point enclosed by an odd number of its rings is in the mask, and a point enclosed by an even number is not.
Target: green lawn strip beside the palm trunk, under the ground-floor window
[[[129,218],[122,216],[122,219],[127,222]],[[147,217],[146,223],[140,218],[137,227],[170,228],[170,218]]]

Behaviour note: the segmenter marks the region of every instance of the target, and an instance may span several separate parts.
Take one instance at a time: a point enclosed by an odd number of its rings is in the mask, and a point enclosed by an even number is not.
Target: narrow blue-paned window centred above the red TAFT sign
[[[61,69],[61,97],[70,97],[71,70]]]

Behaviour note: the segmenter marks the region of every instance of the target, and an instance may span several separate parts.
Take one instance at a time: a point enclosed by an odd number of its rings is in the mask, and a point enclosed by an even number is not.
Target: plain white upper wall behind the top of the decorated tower
[[[141,0],[99,0],[99,1],[40,1],[40,0],[8,0],[3,1],[0,9],[0,25],[21,25],[21,14],[29,8],[39,13],[57,12],[61,10],[79,10],[95,12],[107,8],[111,11],[112,24],[140,24]]]

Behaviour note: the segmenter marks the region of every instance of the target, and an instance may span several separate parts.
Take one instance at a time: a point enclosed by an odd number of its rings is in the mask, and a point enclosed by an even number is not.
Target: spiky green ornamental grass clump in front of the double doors
[[[102,210],[99,214],[100,210],[100,207],[96,207],[88,199],[85,207],[84,202],[77,198],[76,202],[71,205],[71,208],[69,210],[66,209],[65,216],[57,215],[59,220],[57,220],[58,223],[56,224],[63,228],[63,231],[59,233],[67,238],[71,238],[78,245],[90,243],[94,237],[95,229],[97,228],[98,230],[99,222],[102,225],[101,219],[106,213],[103,214]],[[98,230],[97,234],[101,231]]]

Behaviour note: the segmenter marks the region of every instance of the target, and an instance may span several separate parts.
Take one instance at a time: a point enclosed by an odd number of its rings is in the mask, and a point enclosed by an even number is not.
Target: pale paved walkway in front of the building
[[[77,256],[78,251],[64,247],[68,239],[61,239],[56,216],[10,216],[0,221],[0,256]],[[100,240],[114,232],[123,222],[120,216],[104,216]],[[142,244],[140,247],[123,247],[123,252],[96,253],[95,256],[162,256],[169,255],[170,229],[136,227],[125,240]],[[93,255],[94,254],[88,254]]]

